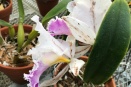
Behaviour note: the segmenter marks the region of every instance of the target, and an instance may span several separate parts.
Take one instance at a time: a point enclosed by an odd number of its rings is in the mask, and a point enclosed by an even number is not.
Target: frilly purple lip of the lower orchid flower
[[[39,78],[41,74],[49,67],[44,65],[41,61],[34,61],[34,67],[29,74],[24,74],[25,80],[29,81],[29,87],[39,87]]]

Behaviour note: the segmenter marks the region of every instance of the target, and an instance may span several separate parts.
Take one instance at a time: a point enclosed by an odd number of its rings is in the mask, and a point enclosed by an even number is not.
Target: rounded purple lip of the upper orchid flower
[[[61,18],[56,18],[50,20],[48,27],[48,31],[51,33],[52,36],[56,35],[71,35],[71,32],[64,22],[63,19]]]

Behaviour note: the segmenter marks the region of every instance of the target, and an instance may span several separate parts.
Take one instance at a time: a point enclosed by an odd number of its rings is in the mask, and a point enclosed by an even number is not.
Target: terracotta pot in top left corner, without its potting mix
[[[9,2],[9,6],[3,10],[0,10],[0,19],[9,22],[9,17],[12,12],[12,0],[7,0]]]

